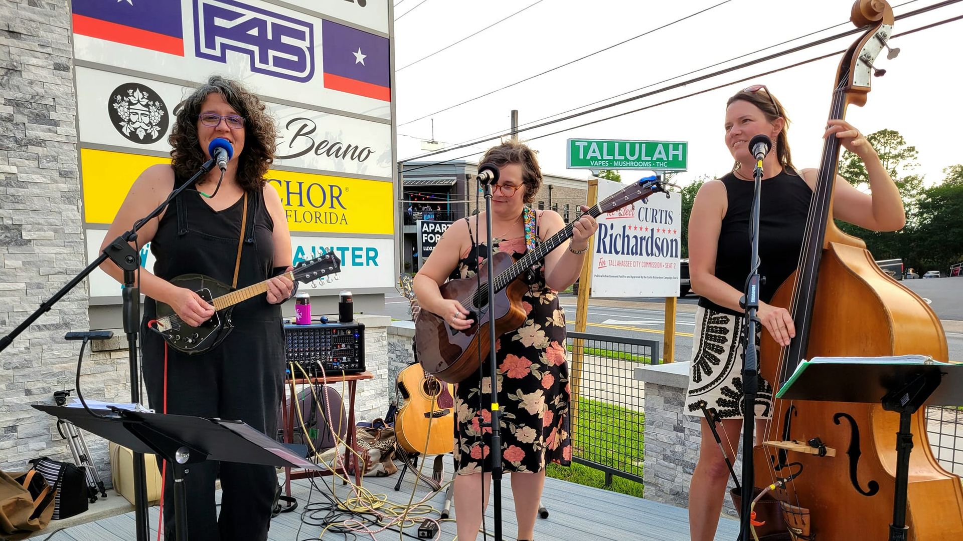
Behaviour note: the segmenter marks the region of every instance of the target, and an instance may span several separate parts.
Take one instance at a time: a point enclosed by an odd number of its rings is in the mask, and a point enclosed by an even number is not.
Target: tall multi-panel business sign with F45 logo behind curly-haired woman
[[[338,254],[347,272],[322,289],[393,285],[387,0],[71,6],[89,258],[140,172],[169,163],[178,104],[221,74],[262,96],[277,121],[268,176],[285,207],[295,262]],[[152,263],[144,246],[142,264]],[[117,284],[101,274],[91,275],[91,297],[117,296]]]

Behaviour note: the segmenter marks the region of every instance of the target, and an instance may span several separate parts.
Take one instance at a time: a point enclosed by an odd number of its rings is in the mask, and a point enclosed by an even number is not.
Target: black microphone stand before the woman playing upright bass
[[[756,328],[759,311],[759,287],[764,279],[759,275],[759,202],[763,185],[763,159],[756,159],[752,173],[755,184],[752,193],[752,210],[749,216],[750,258],[749,276],[741,304],[745,309],[746,338],[745,362],[742,365],[742,505],[740,509],[740,541],[751,541],[750,516],[753,487],[755,486],[752,464],[753,436],[756,427],[756,393],[759,391],[759,349],[756,348]]]

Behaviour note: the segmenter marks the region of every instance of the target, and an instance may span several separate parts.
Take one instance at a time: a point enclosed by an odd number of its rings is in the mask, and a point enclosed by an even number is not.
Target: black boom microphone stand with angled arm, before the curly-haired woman
[[[140,256],[137,251],[134,250],[130,243],[137,240],[137,232],[143,227],[143,224],[150,221],[157,215],[161,214],[168,204],[178,193],[181,193],[189,186],[192,186],[201,175],[207,174],[212,168],[214,168],[216,162],[211,159],[208,160],[200,170],[192,176],[187,182],[185,182],[180,188],[172,191],[168,198],[164,200],[156,209],[154,209],[149,215],[143,219],[139,219],[134,222],[134,227],[125,231],[122,235],[117,237],[110,245],[104,248],[97,259],[93,260],[90,265],[81,270],[76,276],[73,277],[66,285],[60,289],[54,296],[51,296],[48,300],[42,302],[40,307],[31,314],[24,322],[16,326],[16,328],[11,331],[10,334],[0,339],[0,351],[3,351],[13,343],[13,339],[16,338],[21,332],[27,329],[33,322],[36,322],[40,316],[46,314],[50,311],[58,300],[63,298],[67,293],[70,292],[81,281],[84,280],[94,269],[100,267],[107,259],[113,261],[117,267],[123,270],[123,328],[124,333],[127,335],[127,355],[130,366],[130,399],[133,403],[139,403],[141,401],[141,378],[140,371],[137,365],[137,334],[138,329],[141,327],[141,293],[140,288],[136,283],[137,270],[141,266]],[[78,389],[79,391],[79,389]],[[147,480],[145,477],[145,470],[143,465],[143,453],[134,453],[134,496],[135,496],[135,520],[137,524],[137,541],[148,541],[149,535],[149,524],[147,522]],[[163,522],[163,517],[162,517]]]

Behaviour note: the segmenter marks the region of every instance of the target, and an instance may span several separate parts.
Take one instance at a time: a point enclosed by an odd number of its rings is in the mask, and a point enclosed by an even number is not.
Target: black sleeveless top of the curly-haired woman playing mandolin
[[[184,179],[174,180],[174,187]],[[215,211],[200,193],[188,188],[177,195],[168,206],[150,243],[150,251],[157,258],[154,274],[169,280],[181,274],[205,274],[228,286],[234,280],[234,265],[241,235],[244,197]],[[247,193],[247,226],[241,250],[241,265],[237,287],[243,288],[267,280],[272,276],[274,260],[274,222],[264,205],[260,190]],[[147,298],[144,316],[152,318],[156,303]],[[279,304],[268,302],[267,296],[248,298],[234,307],[233,320],[272,321],[281,316]]]

